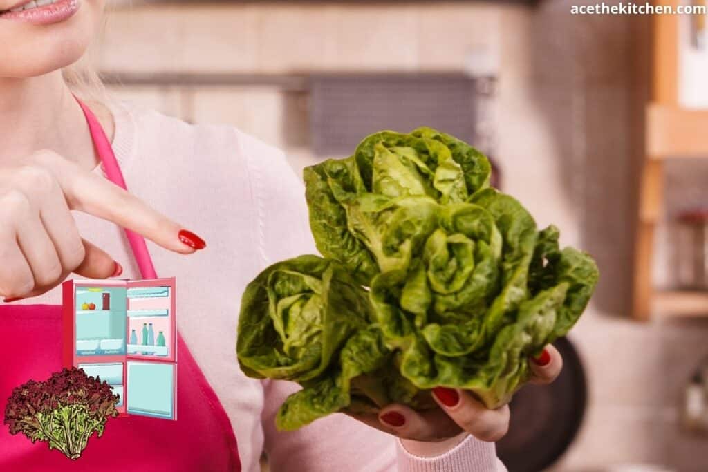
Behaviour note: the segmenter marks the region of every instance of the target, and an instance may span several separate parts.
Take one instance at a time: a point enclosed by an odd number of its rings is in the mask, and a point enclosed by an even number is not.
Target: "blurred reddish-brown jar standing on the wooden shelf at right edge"
[[[678,283],[685,289],[708,289],[708,208],[678,215],[683,236],[678,257]]]

